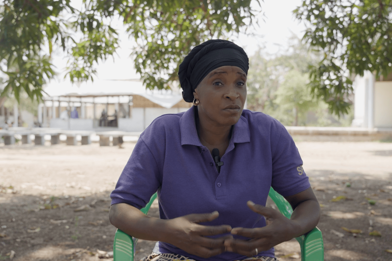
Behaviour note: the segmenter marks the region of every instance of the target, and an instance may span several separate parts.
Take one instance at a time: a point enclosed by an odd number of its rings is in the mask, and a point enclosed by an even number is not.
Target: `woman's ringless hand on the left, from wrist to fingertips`
[[[229,225],[204,226],[198,223],[208,222],[219,216],[218,211],[205,214],[189,214],[167,220],[168,238],[164,242],[170,243],[178,248],[203,258],[209,258],[225,252],[224,242],[231,239],[232,235],[218,238],[216,236],[230,233]]]

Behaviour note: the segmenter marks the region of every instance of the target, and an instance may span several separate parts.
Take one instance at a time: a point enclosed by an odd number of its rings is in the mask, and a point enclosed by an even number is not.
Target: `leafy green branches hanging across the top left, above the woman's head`
[[[259,0],[254,0],[260,7]],[[78,2],[78,1],[75,1]],[[227,38],[255,23],[250,0],[0,1],[0,69],[7,76],[1,96],[19,100],[23,89],[40,99],[56,73],[52,51],[67,59],[71,82],[93,80],[96,65],[116,52],[125,24],[136,40],[134,65],[147,88],[169,88],[189,50],[211,38]],[[260,7],[261,8],[261,7]]]

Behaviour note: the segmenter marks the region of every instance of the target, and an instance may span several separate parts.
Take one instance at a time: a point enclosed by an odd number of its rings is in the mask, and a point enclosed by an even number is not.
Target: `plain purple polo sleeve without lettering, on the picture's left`
[[[141,209],[160,187],[160,169],[142,137],[136,143],[116,188],[111,193],[111,205],[127,203]]]

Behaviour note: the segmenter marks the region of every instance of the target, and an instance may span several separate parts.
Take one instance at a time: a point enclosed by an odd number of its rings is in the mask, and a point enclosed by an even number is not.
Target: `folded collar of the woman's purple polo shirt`
[[[196,123],[194,117],[194,110],[196,106],[192,106],[186,111],[180,119],[180,135],[181,145],[189,144],[195,146],[203,146],[200,143],[197,135]],[[249,125],[248,121],[244,116],[240,117],[240,120],[234,125],[232,134],[233,143],[250,142]]]

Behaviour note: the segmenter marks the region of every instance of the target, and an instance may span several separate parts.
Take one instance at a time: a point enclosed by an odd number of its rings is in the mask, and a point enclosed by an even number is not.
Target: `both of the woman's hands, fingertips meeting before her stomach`
[[[190,214],[183,217],[170,219],[172,245],[203,258],[216,256],[223,252],[236,252],[244,256],[256,256],[256,254],[269,250],[275,245],[292,239],[298,231],[295,221],[292,221],[280,212],[247,202],[248,207],[266,218],[267,226],[261,228],[231,228],[229,225],[204,226],[200,222],[207,222],[219,216],[217,211],[207,214]],[[216,236],[227,234],[218,238]],[[244,236],[250,239],[234,239],[232,235]],[[257,253],[256,253],[257,251]]]

